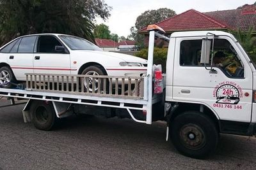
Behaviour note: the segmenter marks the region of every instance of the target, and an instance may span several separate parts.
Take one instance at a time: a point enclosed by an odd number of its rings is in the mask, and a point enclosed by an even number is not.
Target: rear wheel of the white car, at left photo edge
[[[10,89],[13,86],[12,83],[15,83],[15,81],[15,76],[10,67],[4,66],[0,68],[0,87]]]

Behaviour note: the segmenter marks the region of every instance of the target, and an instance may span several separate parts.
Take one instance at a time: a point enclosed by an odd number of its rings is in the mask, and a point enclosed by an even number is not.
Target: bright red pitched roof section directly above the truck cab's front
[[[193,9],[167,18],[166,20],[158,22],[156,25],[162,27],[166,32],[210,29],[221,30],[229,28],[227,24]],[[141,29],[139,32],[147,32],[147,28]]]

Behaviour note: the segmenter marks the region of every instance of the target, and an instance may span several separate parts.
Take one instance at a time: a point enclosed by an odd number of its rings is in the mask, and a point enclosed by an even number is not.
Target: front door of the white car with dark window
[[[70,55],[67,49],[57,52],[56,46],[63,46],[56,36],[38,37],[34,54],[34,73],[70,74]]]

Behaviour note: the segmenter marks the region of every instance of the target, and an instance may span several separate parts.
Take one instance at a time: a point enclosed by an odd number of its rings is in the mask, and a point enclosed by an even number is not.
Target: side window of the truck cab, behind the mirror
[[[200,64],[201,48],[202,39],[182,41],[180,66],[203,66]],[[211,66],[211,61],[208,66]],[[243,63],[227,39],[214,39],[212,66],[220,68],[230,78],[244,78]]]

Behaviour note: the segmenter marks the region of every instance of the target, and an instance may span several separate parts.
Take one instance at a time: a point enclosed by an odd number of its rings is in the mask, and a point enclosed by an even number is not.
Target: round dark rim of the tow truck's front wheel
[[[205,133],[195,124],[184,125],[180,129],[180,139],[186,148],[198,150],[205,146]]]

